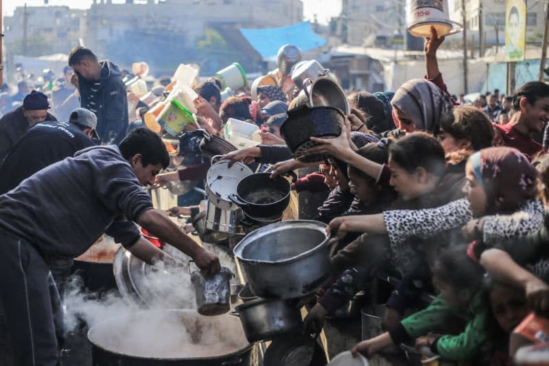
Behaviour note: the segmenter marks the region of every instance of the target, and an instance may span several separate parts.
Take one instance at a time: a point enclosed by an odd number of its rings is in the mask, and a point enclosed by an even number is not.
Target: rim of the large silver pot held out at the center
[[[261,233],[264,233],[264,231],[279,231],[283,230],[285,225],[290,225],[292,223],[296,224],[303,224],[309,226],[310,229],[314,229],[317,231],[320,231],[324,233],[325,239],[320,242],[315,247],[312,247],[308,251],[304,251],[303,253],[299,253],[298,255],[294,255],[293,257],[286,258],[284,260],[254,260],[250,258],[244,258],[242,257],[242,251],[244,251],[244,248],[249,244],[250,240],[253,240],[256,236],[259,236]],[[312,225],[316,225],[316,227],[311,227]],[[298,260],[302,260],[303,258],[309,257],[319,251],[320,249],[323,249],[323,247],[327,247],[329,243],[329,236],[326,235],[326,228],[328,225],[326,225],[324,222],[321,221],[315,221],[315,220],[284,220],[281,222],[276,222],[274,224],[267,225],[265,227],[260,227],[259,229],[255,229],[251,233],[248,233],[247,236],[244,237],[233,249],[233,254],[235,255],[238,260],[246,263],[246,264],[290,264],[292,262],[296,262]]]

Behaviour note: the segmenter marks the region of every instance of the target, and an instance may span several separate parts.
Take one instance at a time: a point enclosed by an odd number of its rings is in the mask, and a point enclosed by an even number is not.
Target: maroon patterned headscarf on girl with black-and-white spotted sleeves
[[[538,172],[515,148],[486,148],[471,155],[468,163],[487,194],[489,213],[516,211],[537,196]]]

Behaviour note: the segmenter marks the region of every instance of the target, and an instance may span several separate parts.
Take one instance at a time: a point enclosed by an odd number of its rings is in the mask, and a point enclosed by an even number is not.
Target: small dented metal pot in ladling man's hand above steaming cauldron
[[[199,314],[220,315],[231,310],[231,284],[229,280],[234,274],[229,268],[221,267],[221,271],[213,276],[205,277],[200,271],[191,273],[191,282],[196,295],[196,305]]]

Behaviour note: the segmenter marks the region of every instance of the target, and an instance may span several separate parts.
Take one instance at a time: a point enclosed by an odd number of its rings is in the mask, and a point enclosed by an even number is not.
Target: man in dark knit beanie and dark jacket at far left
[[[47,96],[33,90],[23,100],[23,106],[0,118],[0,165],[30,127],[39,122],[57,121],[48,109]]]

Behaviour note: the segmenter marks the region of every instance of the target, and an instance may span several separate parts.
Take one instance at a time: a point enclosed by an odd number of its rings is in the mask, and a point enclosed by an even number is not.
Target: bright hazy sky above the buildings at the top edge
[[[2,12],[4,15],[11,15],[17,6],[24,3],[27,5],[43,5],[43,0],[3,0]],[[89,8],[92,0],[49,0],[50,5],[69,5],[71,8]],[[341,12],[341,0],[303,0],[303,15],[305,19],[313,19],[314,14],[318,16],[320,23],[327,23],[331,16]]]

